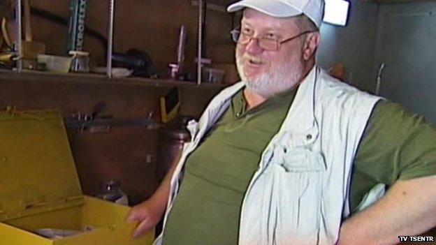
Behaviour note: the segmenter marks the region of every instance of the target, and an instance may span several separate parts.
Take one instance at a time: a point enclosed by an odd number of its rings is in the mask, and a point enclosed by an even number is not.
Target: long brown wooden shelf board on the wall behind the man
[[[144,77],[112,77],[95,73],[49,73],[34,70],[22,70],[17,73],[12,70],[0,70],[2,80],[45,80],[50,82],[75,82],[81,84],[122,84],[146,87],[190,87],[199,89],[220,89],[228,84],[202,83],[175,81],[165,79],[151,79]]]

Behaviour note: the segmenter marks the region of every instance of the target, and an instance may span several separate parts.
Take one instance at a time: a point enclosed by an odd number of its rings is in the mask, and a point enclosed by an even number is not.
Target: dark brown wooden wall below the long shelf
[[[73,112],[92,114],[97,103],[105,103],[103,114],[114,118],[147,117],[150,111],[159,122],[159,96],[174,84],[154,85],[148,80],[109,81],[104,77],[71,75],[16,75],[0,73],[0,108],[17,110],[54,109],[63,117]],[[180,83],[180,114],[198,117],[220,86]],[[131,203],[150,196],[157,185],[159,132],[145,126],[112,127],[106,133],[68,128],[82,190],[89,195],[100,191],[102,181],[117,179]]]

